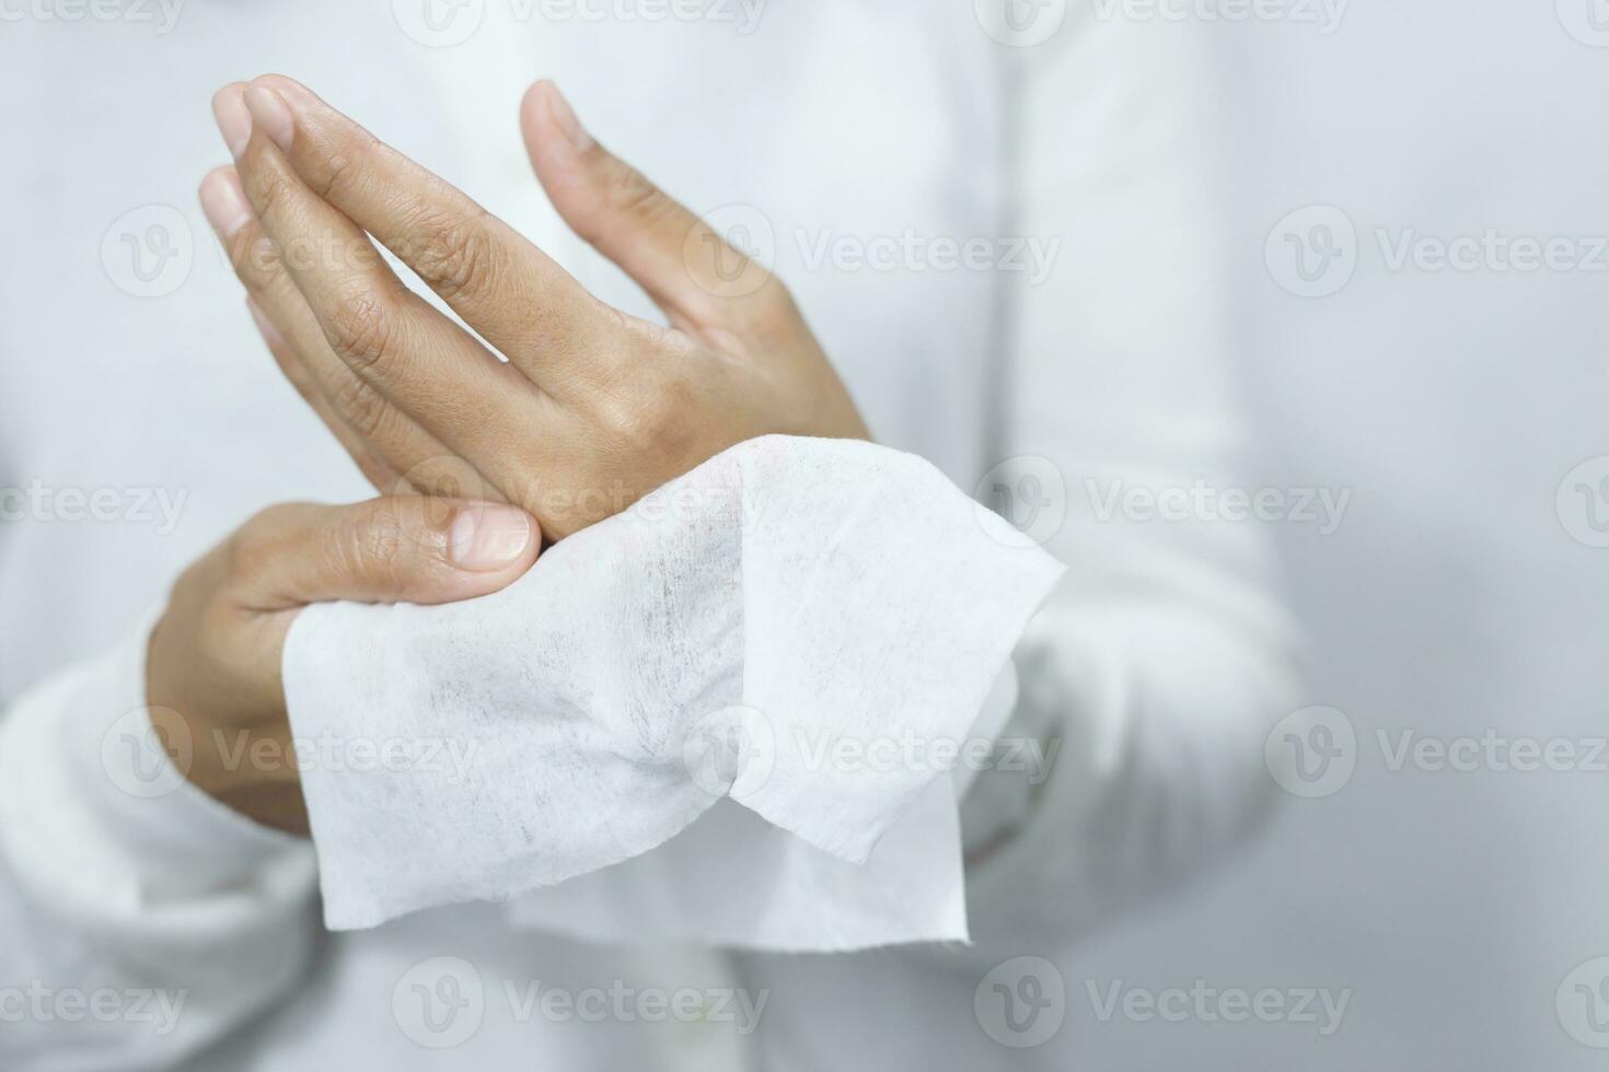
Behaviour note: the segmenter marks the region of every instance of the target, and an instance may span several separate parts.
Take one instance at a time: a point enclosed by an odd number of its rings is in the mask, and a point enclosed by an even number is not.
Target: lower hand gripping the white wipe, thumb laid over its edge
[[[306,834],[290,762],[280,656],[311,603],[455,603],[499,591],[536,561],[541,529],[513,506],[402,495],[352,506],[270,506],[193,564],[151,633],[146,704],[193,744],[185,771],[265,826]],[[163,725],[179,720],[179,725]],[[169,738],[172,739],[172,738]]]

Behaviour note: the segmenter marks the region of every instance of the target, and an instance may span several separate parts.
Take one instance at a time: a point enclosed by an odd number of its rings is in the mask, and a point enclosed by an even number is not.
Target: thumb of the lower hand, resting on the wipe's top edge
[[[455,603],[525,575],[541,550],[515,506],[425,495],[352,506],[296,503],[253,518],[228,546],[243,601],[259,611],[309,603]]]

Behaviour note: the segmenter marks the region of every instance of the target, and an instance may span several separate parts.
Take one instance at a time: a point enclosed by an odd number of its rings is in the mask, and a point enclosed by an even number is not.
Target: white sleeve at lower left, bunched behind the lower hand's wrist
[[[180,778],[148,628],[0,712],[0,1067],[171,1067],[299,979],[311,847]]]

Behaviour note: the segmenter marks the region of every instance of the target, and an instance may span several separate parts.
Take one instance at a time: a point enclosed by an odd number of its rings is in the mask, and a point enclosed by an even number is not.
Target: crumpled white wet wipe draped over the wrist
[[[965,939],[957,794],[1060,572],[920,458],[767,436],[500,593],[307,608],[285,691],[325,921]]]

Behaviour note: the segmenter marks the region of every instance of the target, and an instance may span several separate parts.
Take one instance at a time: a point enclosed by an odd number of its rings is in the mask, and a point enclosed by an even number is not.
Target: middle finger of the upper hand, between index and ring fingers
[[[238,87],[227,87],[220,96],[235,93]],[[220,116],[228,111],[220,101]],[[520,442],[536,439],[541,392],[409,291],[368,236],[307,190],[261,127],[253,125],[237,161],[241,186],[330,350],[451,453],[507,489],[520,474],[507,468],[505,444],[515,431]]]

